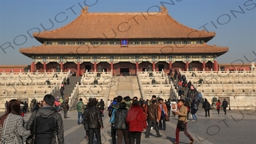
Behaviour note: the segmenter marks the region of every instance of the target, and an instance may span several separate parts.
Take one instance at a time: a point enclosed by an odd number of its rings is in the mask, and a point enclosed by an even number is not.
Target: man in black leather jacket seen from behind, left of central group
[[[101,144],[100,129],[103,129],[103,122],[97,103],[97,100],[92,100],[92,107],[88,108],[84,116],[89,129],[89,144],[93,144],[94,134],[96,135],[97,143]]]

